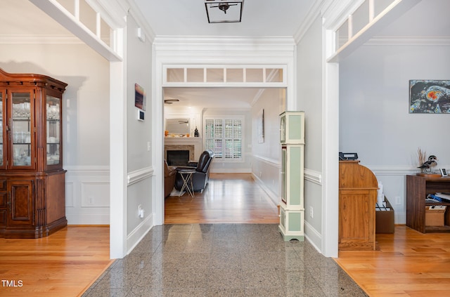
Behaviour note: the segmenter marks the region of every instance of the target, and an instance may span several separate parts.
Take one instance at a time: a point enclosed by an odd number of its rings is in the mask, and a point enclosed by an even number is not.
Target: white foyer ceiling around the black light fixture
[[[134,2],[156,35],[292,37],[314,0],[245,0],[242,22],[221,24],[208,23],[204,0]]]

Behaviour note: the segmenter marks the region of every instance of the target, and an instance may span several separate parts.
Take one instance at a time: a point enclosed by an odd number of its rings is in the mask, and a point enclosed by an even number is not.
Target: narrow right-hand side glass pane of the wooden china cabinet
[[[47,165],[60,164],[60,98],[46,96]]]

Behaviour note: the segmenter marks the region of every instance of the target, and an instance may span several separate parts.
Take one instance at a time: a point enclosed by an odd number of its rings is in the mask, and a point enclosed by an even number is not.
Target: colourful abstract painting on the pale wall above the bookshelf
[[[410,114],[450,114],[450,80],[410,80]]]

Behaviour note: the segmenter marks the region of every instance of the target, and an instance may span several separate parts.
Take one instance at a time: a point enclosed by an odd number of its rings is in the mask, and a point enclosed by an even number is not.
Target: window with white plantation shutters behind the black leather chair
[[[243,119],[206,118],[205,149],[212,150],[221,161],[242,159]]]

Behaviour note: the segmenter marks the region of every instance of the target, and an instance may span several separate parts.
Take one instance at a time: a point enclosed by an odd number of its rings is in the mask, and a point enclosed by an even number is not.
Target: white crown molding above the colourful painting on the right
[[[365,46],[450,46],[450,37],[392,37],[369,39]]]

